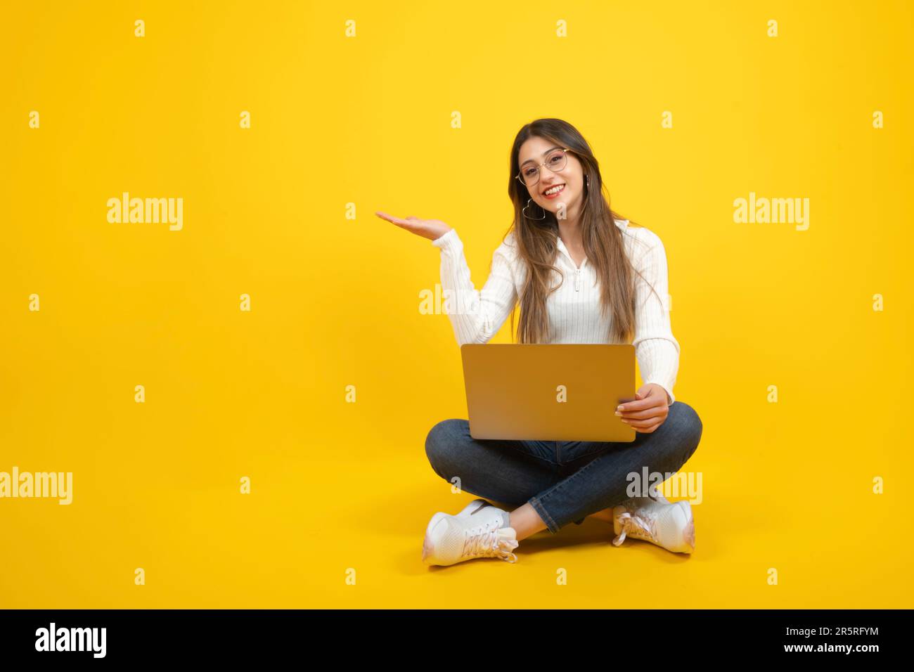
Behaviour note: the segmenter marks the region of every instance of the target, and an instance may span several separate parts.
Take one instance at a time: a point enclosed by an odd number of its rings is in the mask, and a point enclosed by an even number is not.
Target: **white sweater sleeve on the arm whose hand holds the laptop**
[[[679,369],[679,342],[673,336],[670,325],[666,251],[659,238],[644,253],[638,270],[644,279],[635,275],[635,336],[632,345],[644,384],[655,383],[664,388],[672,404],[675,401],[673,386]],[[656,294],[648,283],[654,286]]]

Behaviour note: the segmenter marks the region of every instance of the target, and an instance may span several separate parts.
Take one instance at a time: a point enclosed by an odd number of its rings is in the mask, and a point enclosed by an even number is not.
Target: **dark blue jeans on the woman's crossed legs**
[[[473,439],[470,422],[444,420],[431,428],[425,453],[448,482],[497,504],[529,503],[550,532],[629,498],[630,474],[675,474],[695,453],[702,424],[696,411],[675,400],[654,432],[632,443]],[[644,484],[646,487],[647,484]]]

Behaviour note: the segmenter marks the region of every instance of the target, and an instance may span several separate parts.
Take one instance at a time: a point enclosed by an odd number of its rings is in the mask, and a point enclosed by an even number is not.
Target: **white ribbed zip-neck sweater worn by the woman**
[[[635,276],[635,334],[632,345],[644,384],[656,383],[666,390],[669,403],[675,401],[673,386],[679,369],[679,342],[670,327],[666,252],[660,238],[650,229],[632,227],[628,219],[616,220],[622,229],[625,252],[634,267],[647,279],[661,302],[644,281]],[[458,345],[487,343],[505,324],[519,300],[526,279],[526,265],[517,254],[515,232],[494,251],[492,271],[482,290],[470,280],[463,254],[463,242],[451,229],[431,244],[441,249],[441,289],[450,295],[447,311]],[[547,299],[551,343],[612,343],[612,315],[600,315],[600,287],[597,273],[588,260],[575,266],[565,243],[557,241],[556,265],[567,279]],[[556,283],[561,279],[556,277]]]

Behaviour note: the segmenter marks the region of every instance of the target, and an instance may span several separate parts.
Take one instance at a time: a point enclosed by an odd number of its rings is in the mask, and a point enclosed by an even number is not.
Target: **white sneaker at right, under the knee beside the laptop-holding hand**
[[[660,496],[654,492],[655,496]],[[660,496],[664,499],[663,496]],[[695,521],[692,507],[685,501],[670,503],[651,497],[633,497],[612,508],[612,529],[619,546],[626,536],[650,541],[674,553],[695,550]]]

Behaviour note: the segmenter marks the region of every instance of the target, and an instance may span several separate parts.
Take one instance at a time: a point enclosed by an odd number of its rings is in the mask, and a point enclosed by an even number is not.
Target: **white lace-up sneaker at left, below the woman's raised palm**
[[[436,513],[422,541],[422,562],[453,565],[473,558],[501,558],[516,562],[514,528],[505,527],[505,511],[484,500],[474,500],[456,516]]]

